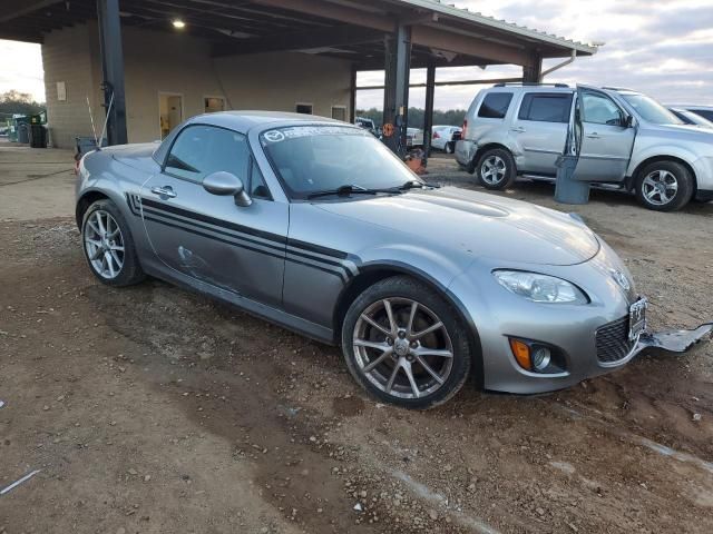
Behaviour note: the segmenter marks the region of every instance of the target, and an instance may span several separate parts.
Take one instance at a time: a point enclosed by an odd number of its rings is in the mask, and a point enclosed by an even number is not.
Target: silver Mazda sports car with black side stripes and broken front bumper
[[[711,332],[648,334],[646,299],[576,216],[429,186],[343,122],[204,115],[78,172],[99,280],[150,275],[341,345],[354,378],[401,406],[443,403],[469,377],[554,390]]]

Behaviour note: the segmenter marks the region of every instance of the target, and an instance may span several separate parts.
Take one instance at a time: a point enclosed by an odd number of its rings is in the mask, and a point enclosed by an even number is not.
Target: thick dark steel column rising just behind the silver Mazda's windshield
[[[393,134],[384,135],[384,142],[397,155],[403,157],[407,151],[406,128],[409,118],[411,27],[398,23],[393,34],[385,37],[384,52],[383,125],[393,126]]]

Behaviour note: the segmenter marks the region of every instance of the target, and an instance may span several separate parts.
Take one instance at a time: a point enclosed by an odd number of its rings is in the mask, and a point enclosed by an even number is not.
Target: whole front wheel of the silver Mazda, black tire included
[[[385,301],[399,334],[388,326]],[[416,316],[409,328],[413,303]],[[423,334],[433,326],[433,332]],[[472,357],[466,332],[456,310],[436,290],[408,276],[395,276],[378,281],[352,303],[342,325],[342,353],[356,383],[378,400],[428,409],[449,400],[468,379]]]

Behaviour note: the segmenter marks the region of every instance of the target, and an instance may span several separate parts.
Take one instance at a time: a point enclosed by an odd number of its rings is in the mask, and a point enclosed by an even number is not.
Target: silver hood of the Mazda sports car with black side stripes
[[[502,261],[575,265],[599,250],[594,233],[566,214],[453,187],[315,206]]]

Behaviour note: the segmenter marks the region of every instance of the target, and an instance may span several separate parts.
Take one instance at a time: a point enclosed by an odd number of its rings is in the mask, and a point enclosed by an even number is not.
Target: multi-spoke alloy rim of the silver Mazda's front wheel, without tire
[[[359,370],[388,395],[421,398],[440,389],[453,346],[439,317],[409,298],[384,298],[360,315],[352,337]]]

